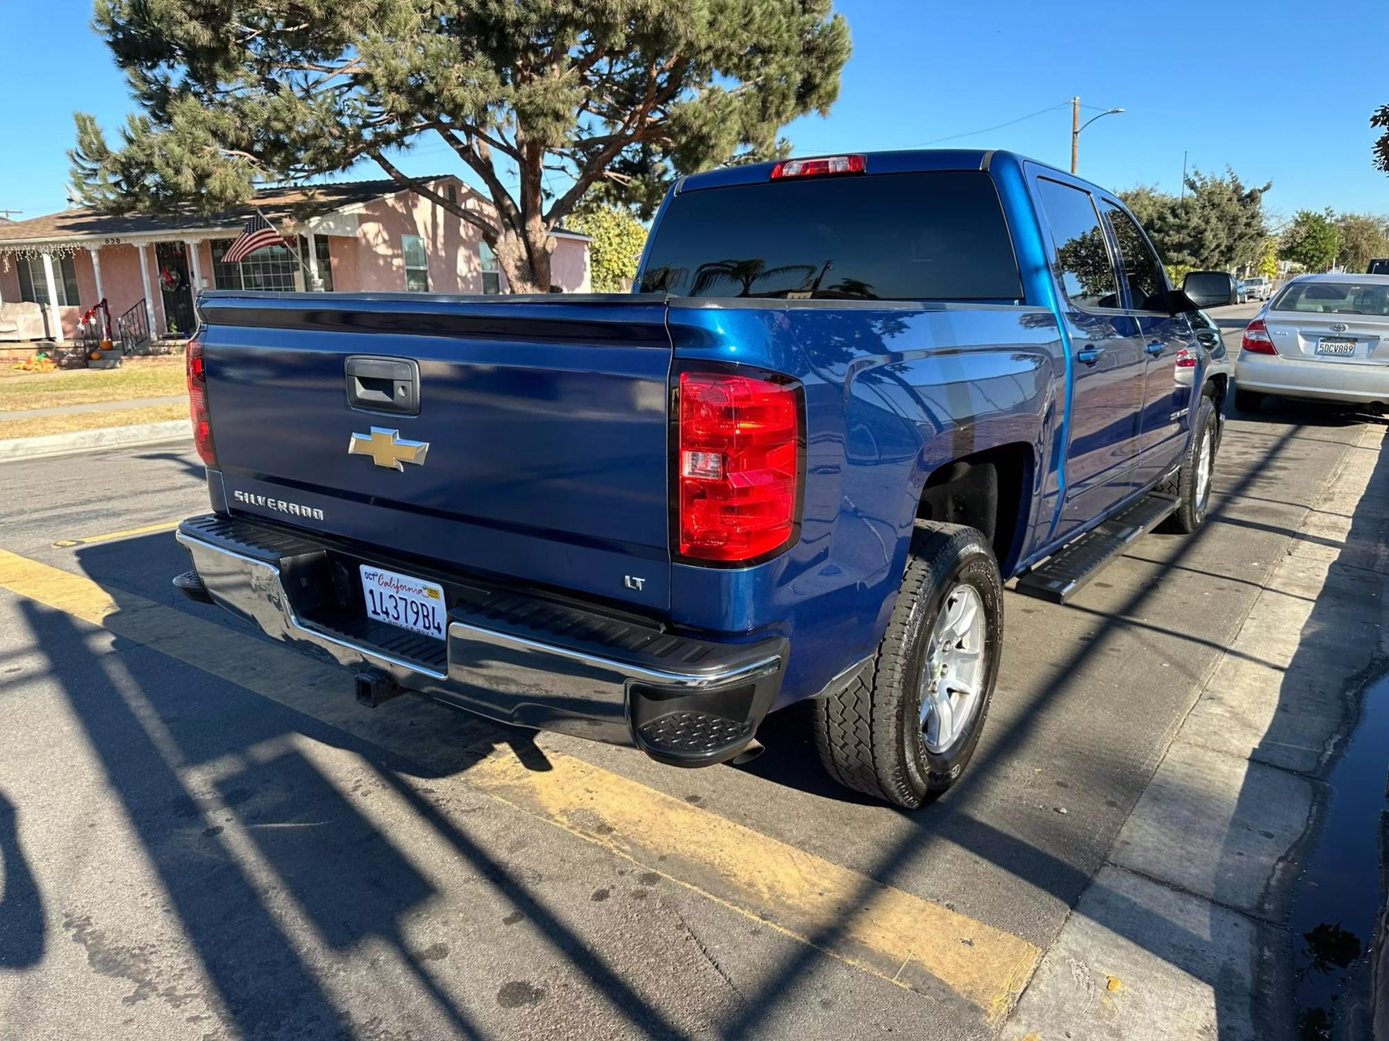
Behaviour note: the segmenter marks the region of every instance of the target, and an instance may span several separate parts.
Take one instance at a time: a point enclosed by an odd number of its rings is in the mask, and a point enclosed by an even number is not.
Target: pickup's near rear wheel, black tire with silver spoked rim
[[[835,780],[917,809],[963,773],[983,730],[1003,647],[1003,580],[972,527],[917,522],[876,654],[815,702]]]

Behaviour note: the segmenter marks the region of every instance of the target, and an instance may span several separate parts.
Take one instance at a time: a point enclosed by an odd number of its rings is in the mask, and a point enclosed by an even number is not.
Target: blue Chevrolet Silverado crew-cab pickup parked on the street
[[[701,766],[810,701],[843,784],[949,787],[1003,587],[1206,512],[1224,376],[1120,200],[1003,151],[688,176],[624,296],[204,293],[178,584],[407,690]],[[1181,379],[1178,376],[1182,376]]]

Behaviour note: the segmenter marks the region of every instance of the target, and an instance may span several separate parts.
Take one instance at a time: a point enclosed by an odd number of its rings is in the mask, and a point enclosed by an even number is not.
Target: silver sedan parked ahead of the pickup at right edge
[[[1245,330],[1235,407],[1265,394],[1389,403],[1389,275],[1301,275]]]

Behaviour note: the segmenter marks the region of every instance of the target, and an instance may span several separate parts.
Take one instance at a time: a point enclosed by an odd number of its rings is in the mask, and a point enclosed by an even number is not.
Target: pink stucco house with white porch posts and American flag
[[[458,178],[419,180],[450,201],[492,208]],[[394,180],[257,194],[256,207],[294,237],[294,247],[260,250],[240,264],[225,264],[222,254],[254,212],[250,207],[213,219],[74,208],[0,222],[0,308],[39,304],[44,336],[72,340],[81,315],[103,297],[113,321],[143,318],[161,336],[193,328],[197,289],[507,291],[476,228]],[[310,203],[313,215],[301,217]],[[554,237],[554,283],[564,293],[590,291],[590,239],[565,230]]]

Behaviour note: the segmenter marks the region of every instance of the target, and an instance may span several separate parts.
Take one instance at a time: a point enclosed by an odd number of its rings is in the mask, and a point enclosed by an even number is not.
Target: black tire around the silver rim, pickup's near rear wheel
[[[921,672],[947,594],[978,594],[983,613],[982,680],[972,716],[953,743],[926,748]],[[842,691],[814,702],[815,747],[835,780],[865,795],[917,809],[960,777],[993,700],[1003,648],[1003,579],[983,534],[917,522],[907,569],[876,654]]]

